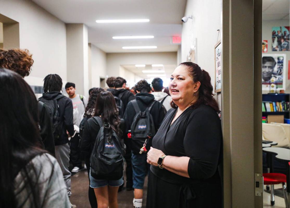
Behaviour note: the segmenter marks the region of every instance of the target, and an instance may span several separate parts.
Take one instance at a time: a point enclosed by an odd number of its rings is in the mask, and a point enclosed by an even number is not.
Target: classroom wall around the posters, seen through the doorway
[[[268,40],[268,53],[263,54],[286,54],[286,67],[285,67],[286,93],[290,93],[290,80],[288,80],[288,60],[290,60],[290,51],[272,51],[272,31],[273,31],[272,27],[289,26],[289,25],[290,25],[289,19],[262,21],[262,40]],[[263,90],[262,93],[269,93],[269,90],[267,91]]]

